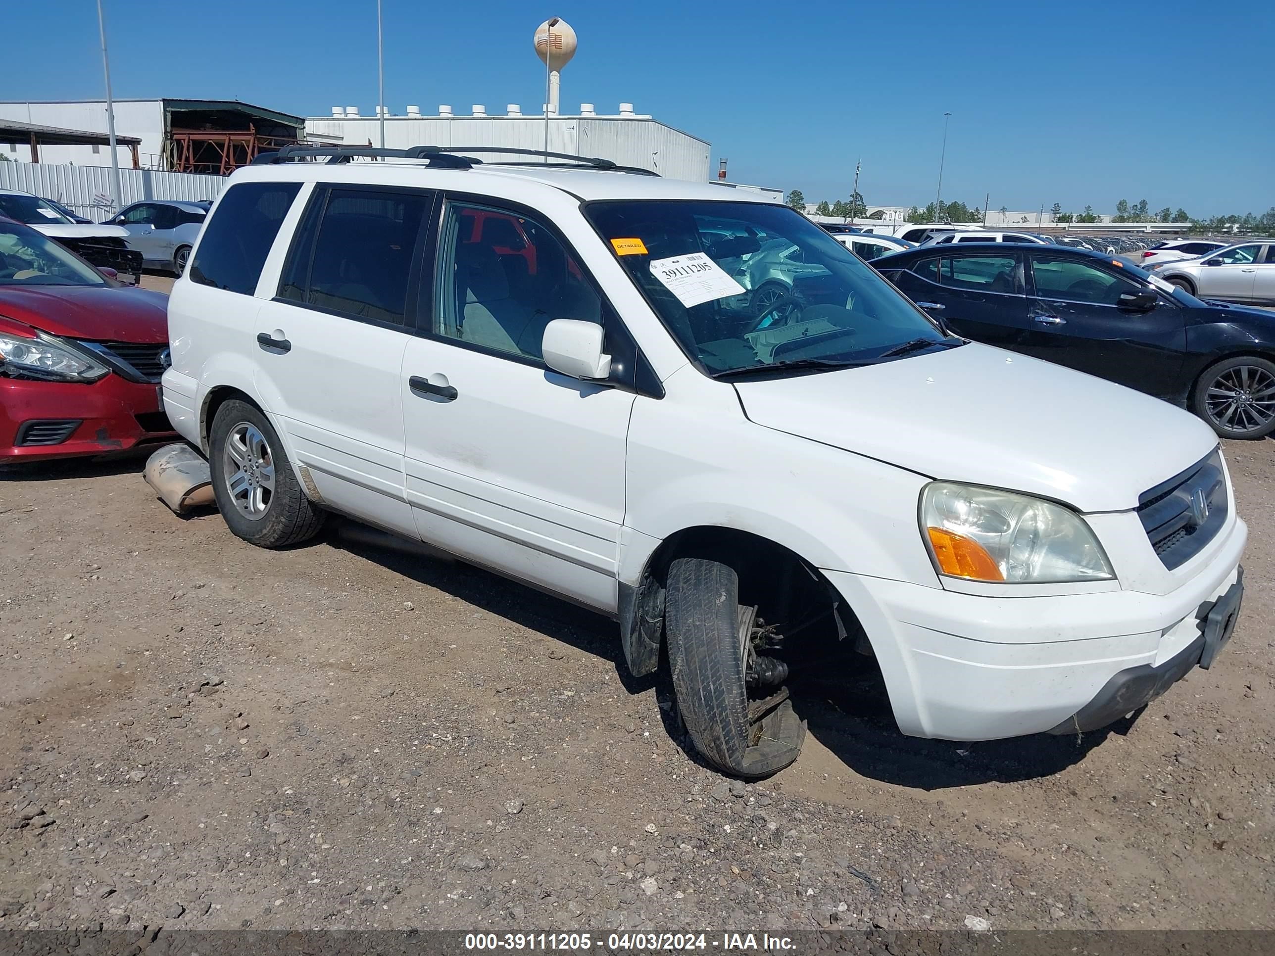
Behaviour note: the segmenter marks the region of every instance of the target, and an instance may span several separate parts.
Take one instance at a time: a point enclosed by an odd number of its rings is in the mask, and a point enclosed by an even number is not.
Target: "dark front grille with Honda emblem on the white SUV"
[[[1214,539],[1229,506],[1221,451],[1216,450],[1145,491],[1137,500],[1137,516],[1156,556],[1172,571]]]

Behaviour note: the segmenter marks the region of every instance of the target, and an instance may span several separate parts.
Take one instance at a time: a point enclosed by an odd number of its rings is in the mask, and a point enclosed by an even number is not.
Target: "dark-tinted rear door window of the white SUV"
[[[425,191],[333,189],[316,198],[283,269],[279,297],[389,325],[405,325],[408,283]],[[321,212],[319,212],[321,206]]]

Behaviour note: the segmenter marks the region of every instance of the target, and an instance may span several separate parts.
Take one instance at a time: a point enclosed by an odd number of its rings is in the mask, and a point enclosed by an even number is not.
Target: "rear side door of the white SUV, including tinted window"
[[[258,391],[307,489],[412,537],[399,381],[435,201],[427,190],[316,187],[256,319]]]

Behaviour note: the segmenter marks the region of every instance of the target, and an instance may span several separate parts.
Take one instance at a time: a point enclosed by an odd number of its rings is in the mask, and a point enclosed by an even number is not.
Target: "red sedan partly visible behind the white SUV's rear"
[[[167,301],[0,218],[0,463],[172,441]]]

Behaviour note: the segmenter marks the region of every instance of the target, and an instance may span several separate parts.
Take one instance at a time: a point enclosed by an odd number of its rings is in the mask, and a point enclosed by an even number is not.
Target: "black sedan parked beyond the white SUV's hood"
[[[871,265],[960,335],[1173,402],[1227,438],[1275,431],[1275,312],[1066,246],[935,246]]]

